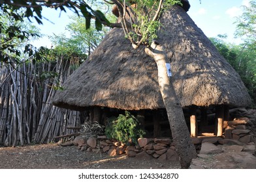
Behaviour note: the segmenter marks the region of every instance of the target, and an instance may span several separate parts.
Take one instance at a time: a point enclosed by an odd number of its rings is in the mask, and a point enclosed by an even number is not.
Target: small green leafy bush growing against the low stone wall
[[[120,114],[118,118],[108,118],[105,134],[108,138],[114,138],[126,144],[129,142],[137,144],[138,138],[145,135],[139,125],[138,119],[130,112],[125,111],[125,114]]]

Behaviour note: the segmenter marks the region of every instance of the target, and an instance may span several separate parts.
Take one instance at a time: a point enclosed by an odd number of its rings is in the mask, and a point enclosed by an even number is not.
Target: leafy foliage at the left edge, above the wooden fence
[[[28,40],[39,36],[39,30],[24,20],[24,12],[9,6],[0,8],[0,61],[8,62],[22,56],[22,47]],[[28,53],[29,49],[24,49]]]

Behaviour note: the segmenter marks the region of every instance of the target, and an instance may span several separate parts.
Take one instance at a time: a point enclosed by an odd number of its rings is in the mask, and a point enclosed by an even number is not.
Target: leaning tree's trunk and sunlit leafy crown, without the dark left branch
[[[196,157],[189,130],[185,122],[182,105],[172,85],[168,51],[161,42],[157,42],[157,31],[161,29],[159,18],[165,9],[181,1],[167,0],[111,0],[113,11],[118,16],[125,36],[131,41],[133,48],[145,46],[145,53],[157,64],[159,89],[167,110],[172,138],[180,156],[182,168],[188,168]]]

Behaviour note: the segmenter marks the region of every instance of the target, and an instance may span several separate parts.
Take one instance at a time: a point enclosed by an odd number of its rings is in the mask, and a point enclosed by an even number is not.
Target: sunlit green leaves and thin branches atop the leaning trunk
[[[165,8],[180,4],[180,0],[112,0],[118,8],[125,36],[134,47],[150,45],[157,38],[157,29],[161,26],[159,17]]]

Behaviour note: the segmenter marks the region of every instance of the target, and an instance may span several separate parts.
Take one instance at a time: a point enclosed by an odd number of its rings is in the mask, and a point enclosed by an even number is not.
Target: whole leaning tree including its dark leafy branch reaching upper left
[[[27,18],[35,18],[38,23],[42,23],[40,21],[42,19],[42,6],[60,8],[63,11],[65,11],[65,7],[70,8],[76,14],[82,14],[86,18],[87,28],[90,27],[91,19],[95,19],[96,29],[102,29],[103,25],[120,27],[135,49],[139,46],[145,46],[145,53],[152,57],[157,64],[159,90],[167,109],[172,138],[180,155],[181,166],[182,168],[188,168],[191,160],[196,157],[197,153],[185,123],[182,105],[172,86],[170,68],[168,67],[169,64],[167,64],[167,49],[165,49],[161,42],[157,42],[157,31],[161,29],[161,23],[159,23],[161,14],[170,6],[175,4],[182,5],[181,2],[187,2],[187,0],[104,1],[114,4],[118,14],[118,23],[110,23],[101,11],[93,10],[88,5],[88,2],[83,0],[3,0],[1,1],[3,3],[0,4],[0,8],[7,12],[7,6],[12,9],[25,8],[25,16]],[[16,16],[16,14],[10,15]]]

